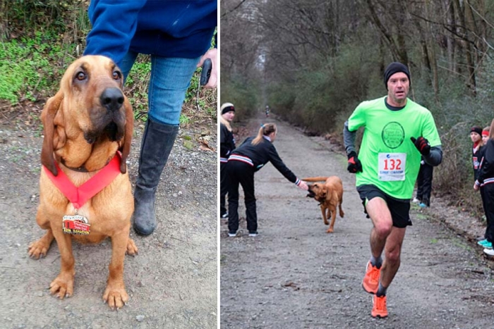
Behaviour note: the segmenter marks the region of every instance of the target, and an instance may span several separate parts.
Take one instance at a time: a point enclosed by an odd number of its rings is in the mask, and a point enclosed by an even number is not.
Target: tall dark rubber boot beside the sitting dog
[[[150,235],[156,228],[156,188],[177,132],[179,126],[147,119],[134,191],[133,228],[140,235]]]

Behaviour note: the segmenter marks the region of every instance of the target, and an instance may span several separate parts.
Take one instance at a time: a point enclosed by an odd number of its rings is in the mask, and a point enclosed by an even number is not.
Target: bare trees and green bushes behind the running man
[[[221,95],[236,120],[269,104],[307,132],[342,141],[356,105],[386,94],[391,61],[433,113],[444,160],[433,193],[483,218],[469,128],[494,118],[494,1],[221,0]]]

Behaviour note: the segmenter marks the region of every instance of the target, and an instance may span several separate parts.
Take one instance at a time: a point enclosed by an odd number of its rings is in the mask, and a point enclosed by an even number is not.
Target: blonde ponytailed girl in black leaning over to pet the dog
[[[276,138],[276,125],[261,125],[256,137],[248,137],[240,147],[230,155],[227,163],[228,173],[228,236],[235,237],[239,230],[239,185],[242,185],[246,203],[248,235],[258,235],[258,217],[255,208],[254,173],[270,161],[287,180],[302,190],[308,190],[306,182],[285,166],[272,142]]]

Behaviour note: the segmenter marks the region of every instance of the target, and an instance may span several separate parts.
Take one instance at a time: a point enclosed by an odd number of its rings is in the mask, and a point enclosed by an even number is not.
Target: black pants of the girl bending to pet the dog
[[[255,212],[254,168],[241,161],[228,161],[228,230],[239,230],[239,185],[242,185],[246,202],[247,230],[258,230],[258,215]]]

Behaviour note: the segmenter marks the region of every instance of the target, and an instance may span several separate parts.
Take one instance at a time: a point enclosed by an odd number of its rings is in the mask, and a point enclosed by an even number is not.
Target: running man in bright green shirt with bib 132
[[[374,294],[370,314],[380,318],[387,316],[386,290],[398,271],[406,226],[411,225],[410,200],[421,156],[431,166],[442,161],[432,114],[407,98],[409,69],[390,63],[384,82],[387,96],[359,104],[343,130],[347,169],[356,173],[356,189],[373,223],[371,257],[362,286]],[[357,156],[355,137],[361,127],[365,130]]]

